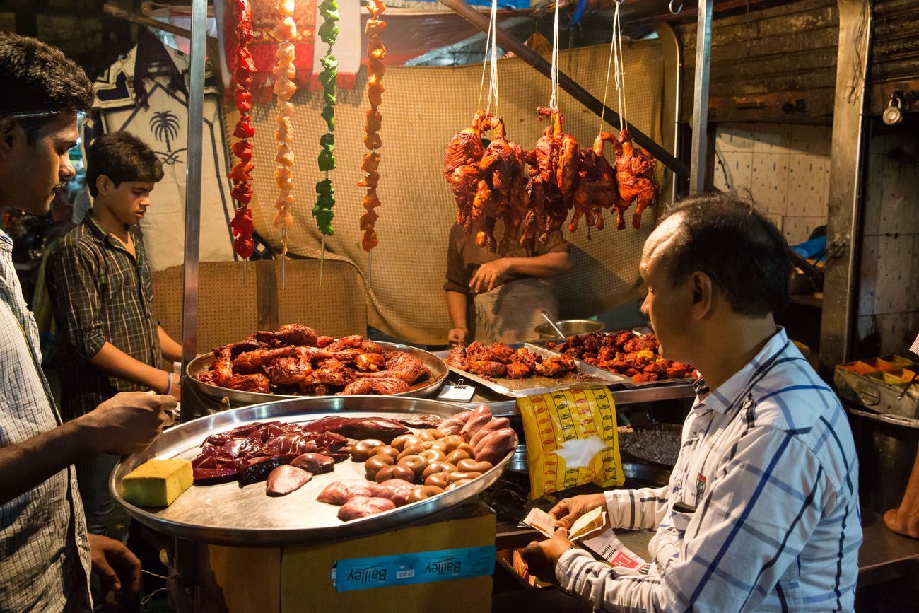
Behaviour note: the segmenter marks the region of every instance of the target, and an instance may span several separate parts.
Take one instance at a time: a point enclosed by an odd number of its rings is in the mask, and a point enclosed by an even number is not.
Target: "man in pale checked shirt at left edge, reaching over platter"
[[[76,113],[90,106],[92,89],[61,51],[7,33],[0,83],[0,207],[44,215],[74,176]],[[0,232],[0,609],[90,610],[90,569],[126,601],[137,592],[140,562],[120,542],[87,535],[73,464],[147,448],[176,400],[118,394],[63,423],[11,250]]]

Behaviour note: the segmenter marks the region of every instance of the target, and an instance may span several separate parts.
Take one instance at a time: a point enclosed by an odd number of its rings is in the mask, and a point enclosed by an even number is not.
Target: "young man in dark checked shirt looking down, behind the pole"
[[[62,415],[74,419],[118,392],[178,397],[178,378],[160,369],[182,359],[182,348],[153,316],[153,280],[140,234],[132,232],[163,178],[163,165],[145,142],[126,131],[96,139],[86,151],[86,185],[93,207],[63,237],[48,260],[54,307]],[[100,454],[76,465],[86,527],[107,534],[115,502],[108,475],[118,458]]]

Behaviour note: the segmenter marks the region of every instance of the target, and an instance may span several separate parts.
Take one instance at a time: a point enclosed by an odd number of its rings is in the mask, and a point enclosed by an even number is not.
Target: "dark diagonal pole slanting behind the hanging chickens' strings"
[[[440,0],[440,4],[447,6],[450,10],[459,15],[459,17],[462,17],[476,28],[481,29],[483,32],[488,31],[488,17],[483,16],[477,10],[463,2],[463,0]],[[709,7],[709,17],[710,14],[711,9]],[[518,58],[524,62],[527,62],[539,73],[551,77],[552,66],[550,62],[547,62],[541,55],[539,55],[539,53],[533,51],[519,40],[516,40],[511,34],[509,34],[504,28],[501,28],[500,26],[495,28],[495,36],[498,40],[498,45],[502,49],[514,51]],[[599,117],[602,112],[607,123],[616,127],[618,130],[618,113],[612,108],[604,108],[602,102],[597,100],[596,97],[591,96],[590,92],[584,89],[584,87],[581,85],[578,85],[576,81],[574,81],[567,74],[562,73],[562,71],[559,71],[559,87],[561,87],[575,100],[583,104],[584,107],[596,113],[597,117]],[[637,142],[642,147],[647,149],[648,153],[651,153],[655,158],[660,160],[661,164],[665,165],[667,168],[670,168],[670,170],[674,171],[677,175],[686,175],[686,173],[689,172],[689,168],[684,162],[677,160],[673,155],[670,154],[670,152],[664,149],[664,147],[654,142],[650,136],[635,126],[631,125],[630,123],[627,125],[632,135],[632,141]]]

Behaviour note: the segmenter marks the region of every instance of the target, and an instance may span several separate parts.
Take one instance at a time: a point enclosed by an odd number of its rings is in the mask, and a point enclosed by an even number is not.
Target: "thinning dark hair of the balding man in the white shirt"
[[[695,271],[711,278],[733,312],[765,317],[789,301],[789,245],[778,228],[743,200],[721,193],[682,199],[673,248],[665,255],[674,285]]]

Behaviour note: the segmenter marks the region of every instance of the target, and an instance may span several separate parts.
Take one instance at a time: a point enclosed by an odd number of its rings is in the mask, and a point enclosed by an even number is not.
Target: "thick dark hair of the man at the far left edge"
[[[93,87],[82,68],[54,47],[17,34],[0,32],[0,83],[0,117],[93,106]],[[54,115],[17,120],[34,142]]]

